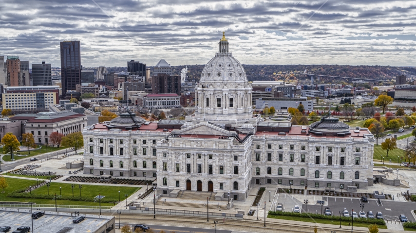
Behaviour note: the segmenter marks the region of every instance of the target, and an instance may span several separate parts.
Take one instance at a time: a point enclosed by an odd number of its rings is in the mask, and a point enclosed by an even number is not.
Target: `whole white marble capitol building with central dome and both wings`
[[[157,123],[123,113],[86,127],[84,173],[157,177],[157,194],[230,192],[234,200],[246,200],[253,184],[373,185],[374,139],[367,129],[350,129],[332,116],[309,126],[263,121],[253,115],[251,94],[223,33],[195,86],[195,113]]]

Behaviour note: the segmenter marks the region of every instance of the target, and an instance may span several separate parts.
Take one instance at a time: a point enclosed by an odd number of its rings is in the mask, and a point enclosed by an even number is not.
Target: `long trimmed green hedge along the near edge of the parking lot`
[[[295,213],[295,212],[269,211],[269,215],[308,217],[308,218],[317,218],[317,219],[326,219],[326,220],[338,220],[338,221],[341,219],[342,221],[351,221],[351,217],[344,217],[344,216],[326,216],[326,215],[311,214],[311,213]],[[371,223],[371,224],[385,225],[385,222],[384,222],[383,219],[377,219],[377,218],[357,217],[357,218],[354,218],[354,222],[362,222],[362,223]]]

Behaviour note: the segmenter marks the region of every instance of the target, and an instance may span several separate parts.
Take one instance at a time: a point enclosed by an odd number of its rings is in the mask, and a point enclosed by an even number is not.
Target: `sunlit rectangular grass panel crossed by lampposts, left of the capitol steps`
[[[72,196],[72,188],[71,183],[51,183],[49,187],[49,194],[57,194],[60,195],[60,189],[62,187],[62,195],[63,196]],[[105,196],[108,199],[117,199],[118,200],[118,191],[120,191],[120,200],[124,200],[124,195],[127,194],[132,195],[133,193],[137,192],[140,187],[125,187],[125,186],[109,186],[109,185],[89,185],[89,184],[82,184],[81,188],[81,196],[82,197],[91,197],[94,198],[101,194],[101,196]],[[34,191],[32,193],[37,194],[48,194],[47,186],[44,185]],[[75,185],[74,188],[74,196],[79,196],[79,187],[78,184]]]

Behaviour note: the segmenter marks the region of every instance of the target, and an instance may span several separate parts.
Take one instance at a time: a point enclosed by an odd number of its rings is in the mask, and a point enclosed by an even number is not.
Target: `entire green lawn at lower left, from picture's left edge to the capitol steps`
[[[8,187],[4,189],[4,193],[0,192],[0,201],[20,201],[20,202],[35,202],[37,204],[55,204],[55,200],[47,199],[25,199],[25,198],[8,198],[7,194],[13,192],[16,189],[22,189],[30,185],[36,185],[36,181],[23,180],[18,178],[6,178]],[[59,187],[62,187],[62,195],[72,195],[71,183],[51,183],[49,187],[49,194],[59,195]],[[82,184],[81,195],[88,197],[95,197],[101,193],[102,196],[106,196],[112,199],[118,199],[118,191],[120,190],[120,200],[125,200],[124,194],[132,195],[139,190],[139,187],[124,187],[124,186],[101,186],[101,185],[88,185]],[[32,192],[47,194],[47,186],[44,185]],[[95,194],[96,193],[96,194]],[[78,185],[74,188],[74,195],[79,195]],[[58,205],[99,205],[98,202],[92,201],[74,201],[74,200],[59,200]],[[113,206],[113,203],[101,203],[102,206]]]

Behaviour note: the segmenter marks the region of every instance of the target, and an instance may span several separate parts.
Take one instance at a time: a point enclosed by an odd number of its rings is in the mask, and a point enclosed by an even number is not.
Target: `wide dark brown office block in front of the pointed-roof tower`
[[[151,77],[151,79],[152,93],[176,93],[181,95],[181,76],[162,73]]]

